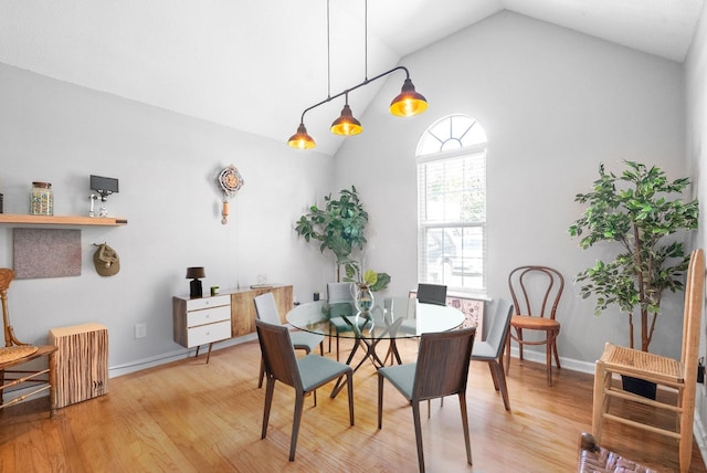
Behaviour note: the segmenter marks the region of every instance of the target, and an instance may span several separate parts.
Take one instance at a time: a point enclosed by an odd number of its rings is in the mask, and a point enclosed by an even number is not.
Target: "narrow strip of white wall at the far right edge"
[[[693,40],[689,54],[685,61],[685,83],[686,83],[686,156],[689,175],[694,176],[694,192],[700,202],[707,202],[707,149],[704,149],[707,139],[707,10],[703,9],[697,33]],[[707,232],[705,225],[707,218],[705,208],[701,207],[699,218],[699,230],[695,235],[695,246],[707,248]],[[707,354],[705,334],[707,323],[703,316],[703,336],[700,337],[700,354]],[[707,425],[707,391],[705,385],[697,387],[697,417],[701,425]],[[696,432],[696,434],[699,432]],[[698,443],[706,444],[707,438],[701,432],[703,438]]]

